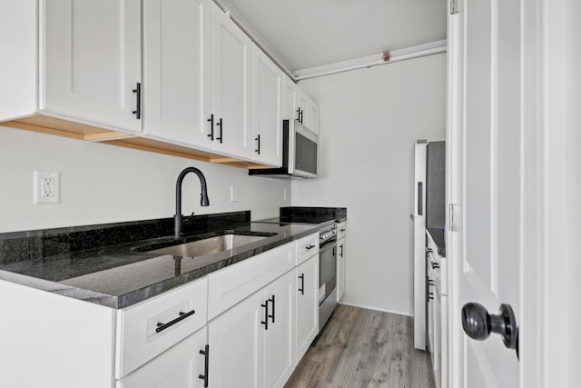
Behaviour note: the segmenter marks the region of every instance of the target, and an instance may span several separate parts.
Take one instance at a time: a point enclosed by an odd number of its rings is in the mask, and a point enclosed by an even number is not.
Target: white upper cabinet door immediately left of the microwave
[[[252,45],[252,160],[282,165],[282,71]]]

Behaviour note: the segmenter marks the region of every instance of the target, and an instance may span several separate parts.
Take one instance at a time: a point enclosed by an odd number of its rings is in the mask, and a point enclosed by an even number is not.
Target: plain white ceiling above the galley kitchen
[[[291,72],[446,39],[447,0],[216,0]]]

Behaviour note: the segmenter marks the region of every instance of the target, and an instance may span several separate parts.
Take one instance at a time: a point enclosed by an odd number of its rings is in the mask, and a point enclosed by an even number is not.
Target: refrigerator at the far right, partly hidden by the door
[[[414,199],[410,218],[414,243],[414,348],[426,349],[426,229],[441,234],[446,224],[446,142],[414,144]]]

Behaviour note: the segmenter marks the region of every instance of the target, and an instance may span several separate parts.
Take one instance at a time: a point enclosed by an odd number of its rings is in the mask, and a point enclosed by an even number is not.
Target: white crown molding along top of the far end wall
[[[447,41],[439,40],[425,45],[414,45],[399,50],[389,52],[389,60],[384,60],[384,53],[364,56],[361,58],[350,59],[349,61],[338,62],[330,65],[310,67],[308,69],[297,70],[293,73],[295,81],[319,77],[322,75],[333,75],[336,73],[348,72],[363,67],[377,65],[386,65],[394,62],[405,61],[408,59],[419,58],[426,55],[445,53],[447,50]]]

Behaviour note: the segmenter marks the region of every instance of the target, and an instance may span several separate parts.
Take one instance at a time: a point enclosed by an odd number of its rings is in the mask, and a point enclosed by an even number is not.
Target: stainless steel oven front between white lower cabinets
[[[321,331],[337,305],[337,225],[322,228],[319,237],[319,331]]]

